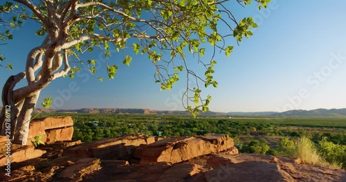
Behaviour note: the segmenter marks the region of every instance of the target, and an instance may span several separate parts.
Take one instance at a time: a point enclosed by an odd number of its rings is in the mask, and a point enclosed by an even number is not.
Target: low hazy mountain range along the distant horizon
[[[1,108],[0,108],[1,109]],[[35,112],[39,112],[38,109]],[[80,110],[45,109],[46,113],[86,113],[86,114],[189,114],[179,110],[149,110],[149,109],[123,109],[123,108],[82,108]],[[286,112],[201,112],[201,115],[238,115],[238,116],[282,116],[282,117],[346,117],[344,109],[317,109],[317,110],[289,110]]]

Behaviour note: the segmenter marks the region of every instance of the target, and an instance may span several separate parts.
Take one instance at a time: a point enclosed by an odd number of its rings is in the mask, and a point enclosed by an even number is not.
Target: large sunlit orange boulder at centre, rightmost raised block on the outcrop
[[[140,163],[179,163],[197,156],[217,153],[234,147],[233,139],[227,134],[206,134],[204,136],[170,137],[138,148]]]

